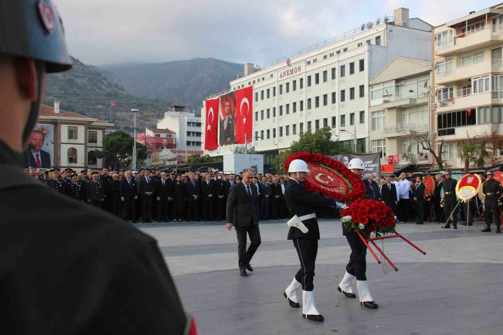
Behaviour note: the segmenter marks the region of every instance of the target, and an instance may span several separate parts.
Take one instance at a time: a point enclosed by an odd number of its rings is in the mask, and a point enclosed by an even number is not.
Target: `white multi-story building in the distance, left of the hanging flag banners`
[[[201,150],[201,117],[195,116],[186,106],[171,105],[164,118],[157,122],[158,129],[170,129],[176,133],[177,149]]]

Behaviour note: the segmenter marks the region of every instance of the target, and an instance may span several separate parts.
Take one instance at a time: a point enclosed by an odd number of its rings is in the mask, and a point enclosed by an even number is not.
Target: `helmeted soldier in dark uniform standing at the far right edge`
[[[494,171],[489,170],[486,174],[487,180],[482,184],[482,193],[484,194],[484,221],[485,228],[483,232],[491,231],[491,222],[496,227],[496,232],[500,233],[501,220],[499,217],[498,199],[503,194],[501,184],[495,180]]]

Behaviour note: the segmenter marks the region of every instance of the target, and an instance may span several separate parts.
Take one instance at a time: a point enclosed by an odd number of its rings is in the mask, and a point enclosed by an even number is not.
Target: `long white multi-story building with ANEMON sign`
[[[332,138],[347,144],[353,145],[356,137],[358,151],[371,151],[369,79],[397,56],[431,61],[431,28],[409,19],[408,9],[400,8],[394,17],[365,23],[261,70],[245,64],[244,74],[230,82],[230,91],[254,88],[253,145],[265,155],[264,163],[272,163],[300,133],[321,127],[331,127]],[[204,122],[204,106],[201,115]],[[204,127],[202,131],[204,136]],[[205,154],[231,151],[227,145]]]

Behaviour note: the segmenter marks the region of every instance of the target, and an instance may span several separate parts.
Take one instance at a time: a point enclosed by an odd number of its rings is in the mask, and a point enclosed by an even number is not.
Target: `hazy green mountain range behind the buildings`
[[[242,64],[215,58],[194,58],[164,63],[127,63],[94,66],[72,57],[71,70],[47,75],[44,104],[60,101],[60,108],[117,127],[155,127],[169,105],[188,106],[200,115],[208,95],[224,91]],[[111,102],[117,107],[110,108]],[[110,113],[111,112],[111,113]]]

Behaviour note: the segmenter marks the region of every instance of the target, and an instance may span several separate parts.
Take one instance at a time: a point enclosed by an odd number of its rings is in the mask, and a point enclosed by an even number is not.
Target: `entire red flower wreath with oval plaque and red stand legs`
[[[403,237],[395,231],[395,218],[391,208],[384,203],[376,200],[362,199],[366,194],[366,188],[363,181],[353,174],[342,162],[334,160],[322,154],[312,154],[308,152],[296,152],[291,154],[285,160],[285,168],[288,171],[290,162],[294,159],[302,159],[309,166],[309,173],[306,181],[303,183],[307,191],[316,192],[322,196],[328,196],[339,201],[352,201],[353,203],[341,212],[341,217],[350,215],[356,221],[353,222],[355,231],[362,239],[363,243],[370,250],[372,256],[381,264],[381,261],[369,245],[374,245],[386,262],[398,271],[398,268],[384,254],[383,250],[377,246],[376,240],[399,237],[408,244],[412,245],[423,255],[426,253],[417,247],[414,243]],[[359,229],[356,229],[358,223],[365,225],[364,231],[379,233],[389,233],[393,235],[377,236],[374,238],[366,237]]]

